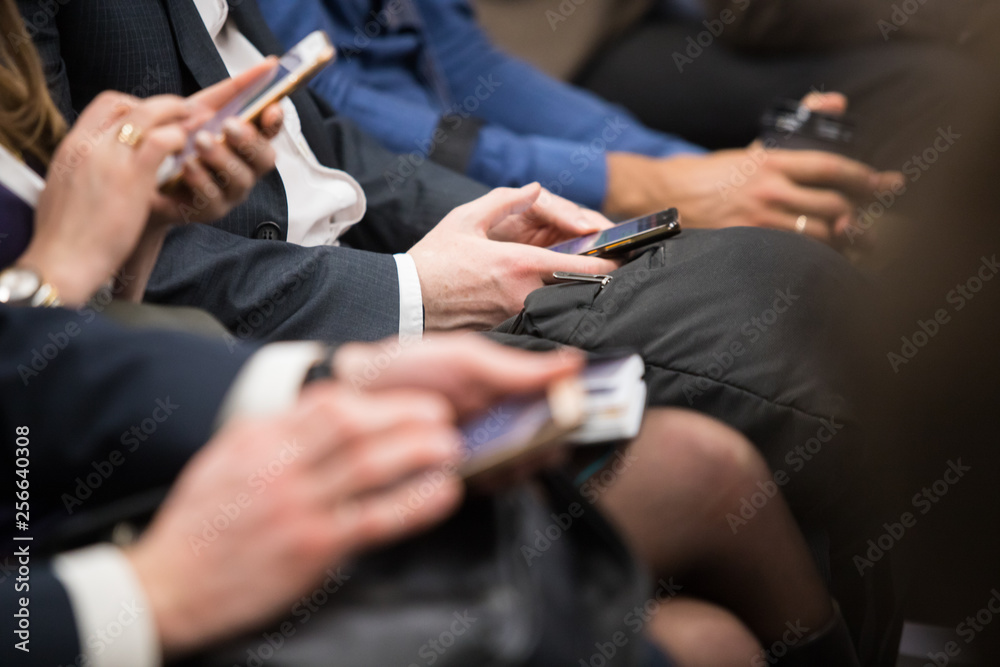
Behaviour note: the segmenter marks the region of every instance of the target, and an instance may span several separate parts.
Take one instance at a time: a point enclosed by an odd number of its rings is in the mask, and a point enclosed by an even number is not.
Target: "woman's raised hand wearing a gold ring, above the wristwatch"
[[[18,264],[39,271],[65,304],[86,303],[135,248],[156,171],[184,146],[182,123],[190,117],[176,97],[98,96],[53,156],[35,235]],[[135,147],[118,141],[126,122],[143,131]]]

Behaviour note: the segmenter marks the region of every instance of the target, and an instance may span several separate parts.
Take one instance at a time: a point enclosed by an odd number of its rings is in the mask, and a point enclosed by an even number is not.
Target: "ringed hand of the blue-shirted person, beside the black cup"
[[[804,103],[830,113],[846,108],[836,94],[812,95]],[[768,150],[760,142],[667,159],[613,153],[608,170],[606,208],[612,213],[642,215],[670,205],[689,227],[786,231],[798,231],[796,222],[805,215],[804,233],[827,243],[847,231],[858,207],[904,183],[902,174],[880,173],[833,153]]]

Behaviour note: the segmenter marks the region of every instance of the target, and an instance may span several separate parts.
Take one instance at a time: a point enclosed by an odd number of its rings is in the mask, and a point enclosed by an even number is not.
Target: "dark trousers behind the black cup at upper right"
[[[857,156],[899,169],[933,141],[928,132],[958,122],[954,99],[985,80],[976,61],[929,44],[890,39],[761,56],[731,48],[701,23],[647,20],[591,63],[578,83],[649,127],[711,149],[749,144],[762,113],[778,99],[842,92],[858,121]]]

